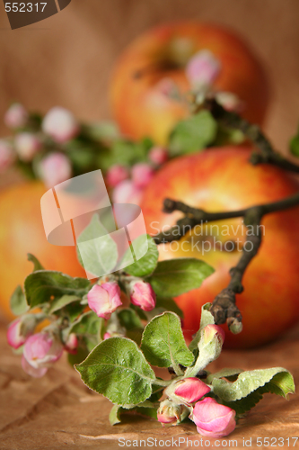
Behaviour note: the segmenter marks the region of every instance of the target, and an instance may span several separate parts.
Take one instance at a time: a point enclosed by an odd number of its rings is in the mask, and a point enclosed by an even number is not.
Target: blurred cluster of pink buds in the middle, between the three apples
[[[137,163],[131,170],[116,164],[107,172],[107,184],[113,188],[113,202],[140,204],[147,184],[151,182],[155,170],[168,159],[166,148],[153,147],[148,157],[149,163]]]

